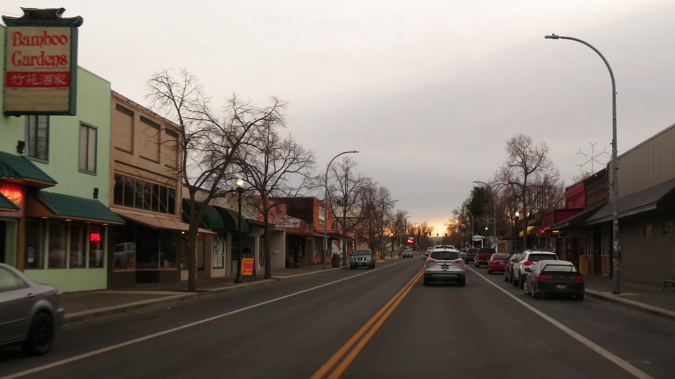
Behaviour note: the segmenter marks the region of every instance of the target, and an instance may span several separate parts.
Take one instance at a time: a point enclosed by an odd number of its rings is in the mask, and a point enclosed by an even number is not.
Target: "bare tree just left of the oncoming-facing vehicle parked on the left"
[[[342,228],[342,264],[347,266],[347,233],[360,224],[367,216],[368,203],[366,190],[371,178],[362,176],[356,170],[358,163],[350,157],[329,168],[329,179],[333,185],[329,188],[329,204]]]

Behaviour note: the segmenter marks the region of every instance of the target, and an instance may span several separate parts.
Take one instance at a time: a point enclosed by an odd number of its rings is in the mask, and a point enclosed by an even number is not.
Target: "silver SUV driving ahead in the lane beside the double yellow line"
[[[424,265],[423,282],[425,286],[431,283],[457,283],[460,287],[466,285],[466,268],[456,249],[433,249]]]

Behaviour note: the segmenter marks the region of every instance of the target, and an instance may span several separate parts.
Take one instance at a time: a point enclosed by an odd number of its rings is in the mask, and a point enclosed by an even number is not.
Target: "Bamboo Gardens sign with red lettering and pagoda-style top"
[[[22,9],[20,18],[2,17],[5,114],[75,116],[82,18],[62,18],[63,8]]]

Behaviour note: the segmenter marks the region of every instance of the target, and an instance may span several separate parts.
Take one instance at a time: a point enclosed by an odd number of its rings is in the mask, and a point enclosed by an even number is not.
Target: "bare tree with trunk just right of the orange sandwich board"
[[[304,149],[289,134],[281,137],[277,128],[284,126],[284,118],[265,122],[253,132],[253,138],[238,154],[238,165],[244,182],[257,196],[248,197],[258,207],[265,223],[265,278],[272,277],[269,216],[278,204],[297,197],[308,188],[310,174],[315,169],[314,152]]]

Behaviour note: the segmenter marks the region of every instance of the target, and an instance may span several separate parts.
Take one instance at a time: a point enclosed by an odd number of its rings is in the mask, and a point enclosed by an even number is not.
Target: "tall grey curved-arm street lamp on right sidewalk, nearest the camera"
[[[618,161],[616,157],[616,82],[614,82],[614,72],[612,72],[612,67],[610,67],[610,63],[607,62],[607,59],[605,59],[604,55],[600,53],[598,49],[595,49],[591,44],[587,43],[586,41],[582,41],[580,39],[576,39],[573,37],[566,37],[566,36],[556,36],[556,34],[551,34],[550,36],[544,36],[545,39],[570,39],[572,41],[576,41],[578,43],[583,43],[584,45],[590,47],[597,53],[597,55],[600,55],[602,58],[602,61],[605,62],[605,66],[607,66],[607,70],[610,70],[610,78],[612,78],[612,176],[613,176],[613,182],[612,182],[612,190],[614,192],[612,196],[612,226],[613,226],[613,236],[612,236],[612,272],[610,274],[612,275],[612,293],[615,295],[618,295],[621,293],[621,290],[619,288],[619,262],[621,260],[620,257],[620,252],[621,249],[619,247],[619,167],[618,167]]]

